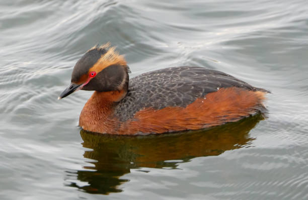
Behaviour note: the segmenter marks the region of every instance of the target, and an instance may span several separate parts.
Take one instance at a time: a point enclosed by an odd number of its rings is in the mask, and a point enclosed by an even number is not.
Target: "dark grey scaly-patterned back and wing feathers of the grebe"
[[[170,67],[131,78],[128,93],[115,108],[115,115],[120,121],[126,121],[145,108],[186,107],[222,87],[264,91],[220,71],[203,67]]]

